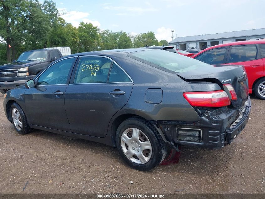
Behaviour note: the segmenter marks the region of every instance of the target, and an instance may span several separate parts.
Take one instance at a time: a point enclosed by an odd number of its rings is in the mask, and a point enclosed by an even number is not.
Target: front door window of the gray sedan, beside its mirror
[[[63,59],[46,69],[39,77],[38,85],[66,84],[76,58]]]

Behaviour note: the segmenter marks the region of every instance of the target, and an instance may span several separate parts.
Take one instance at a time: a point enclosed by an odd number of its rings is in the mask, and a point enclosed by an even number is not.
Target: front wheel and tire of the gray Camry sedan
[[[11,116],[13,120],[13,126],[19,134],[27,134],[30,131],[30,127],[26,118],[26,115],[18,103],[14,102],[10,108]]]

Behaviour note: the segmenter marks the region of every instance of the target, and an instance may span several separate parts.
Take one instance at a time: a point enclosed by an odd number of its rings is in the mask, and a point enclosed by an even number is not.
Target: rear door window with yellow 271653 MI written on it
[[[112,61],[104,57],[82,57],[74,83],[106,83]]]

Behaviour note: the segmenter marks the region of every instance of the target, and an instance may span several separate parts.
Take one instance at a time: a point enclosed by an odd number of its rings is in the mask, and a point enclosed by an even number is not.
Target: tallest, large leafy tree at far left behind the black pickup
[[[0,36],[6,42],[8,62],[16,57],[16,49],[47,46],[52,23],[58,10],[51,0],[0,0]],[[10,48],[11,46],[11,48]]]

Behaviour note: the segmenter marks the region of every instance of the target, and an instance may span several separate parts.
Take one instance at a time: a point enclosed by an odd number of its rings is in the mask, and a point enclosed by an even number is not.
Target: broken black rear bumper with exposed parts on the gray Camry
[[[199,121],[151,121],[161,129],[165,139],[172,145],[183,145],[207,149],[220,149],[236,138],[245,128],[251,112],[251,100],[239,109],[228,107],[208,108],[203,111]],[[182,139],[179,136],[182,132]],[[187,130],[187,131],[185,131]],[[160,130],[159,130],[160,131]],[[183,139],[185,134],[197,137],[198,141]],[[191,137],[192,137],[191,136]]]

